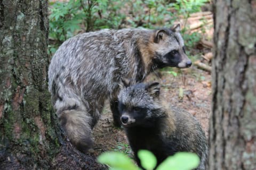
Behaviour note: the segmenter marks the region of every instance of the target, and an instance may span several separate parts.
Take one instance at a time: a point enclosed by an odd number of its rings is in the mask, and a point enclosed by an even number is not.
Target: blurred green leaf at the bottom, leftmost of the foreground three
[[[98,162],[109,165],[111,169],[138,170],[132,160],[122,152],[105,152],[98,157]]]

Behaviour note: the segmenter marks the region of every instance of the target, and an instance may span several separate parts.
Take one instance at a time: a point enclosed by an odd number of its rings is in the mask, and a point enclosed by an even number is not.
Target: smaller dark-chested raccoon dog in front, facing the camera
[[[124,85],[127,88],[118,95],[119,111],[138,165],[140,149],[153,152],[157,165],[176,152],[187,151],[194,152],[201,159],[197,169],[205,169],[208,149],[204,131],[196,118],[163,103],[157,82]]]

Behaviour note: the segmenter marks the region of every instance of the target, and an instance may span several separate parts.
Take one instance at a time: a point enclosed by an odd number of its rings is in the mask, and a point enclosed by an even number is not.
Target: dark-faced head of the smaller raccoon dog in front
[[[125,85],[125,82],[124,82]],[[138,83],[119,92],[118,103],[121,114],[121,123],[124,127],[152,126],[158,115],[159,105],[158,82],[144,84]]]

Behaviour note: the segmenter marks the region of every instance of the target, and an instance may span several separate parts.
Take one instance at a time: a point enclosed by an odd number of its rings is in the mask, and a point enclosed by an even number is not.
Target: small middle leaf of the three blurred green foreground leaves
[[[151,170],[156,167],[157,160],[152,152],[148,150],[139,150],[138,157],[140,158],[140,163],[143,168]]]

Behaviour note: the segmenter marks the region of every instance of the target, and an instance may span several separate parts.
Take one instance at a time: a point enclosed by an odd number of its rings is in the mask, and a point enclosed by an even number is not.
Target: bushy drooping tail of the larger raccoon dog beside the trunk
[[[76,95],[71,88],[63,87],[62,83],[58,85],[52,83],[52,101],[54,108],[57,109],[57,116],[60,124],[65,130],[68,139],[77,149],[86,152],[92,148],[92,116],[88,111],[88,107],[81,98]]]

